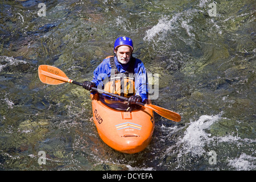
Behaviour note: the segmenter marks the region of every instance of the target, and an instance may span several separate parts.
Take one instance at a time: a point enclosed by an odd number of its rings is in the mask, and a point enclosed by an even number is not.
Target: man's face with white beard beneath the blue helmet
[[[122,64],[127,64],[130,61],[131,53],[133,53],[133,51],[129,46],[120,46],[117,50],[115,49],[117,59]]]

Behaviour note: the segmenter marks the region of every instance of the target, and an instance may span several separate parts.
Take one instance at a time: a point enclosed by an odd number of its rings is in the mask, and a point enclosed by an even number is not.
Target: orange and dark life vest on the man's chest
[[[123,97],[130,97],[135,94],[134,63],[135,58],[131,57],[130,65],[126,72],[120,73],[114,62],[114,56],[110,58],[111,72],[109,82],[104,85],[106,92],[118,94]]]

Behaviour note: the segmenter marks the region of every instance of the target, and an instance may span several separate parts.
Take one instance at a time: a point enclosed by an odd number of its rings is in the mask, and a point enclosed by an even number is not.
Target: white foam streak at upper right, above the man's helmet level
[[[197,25],[193,23],[193,21],[199,14],[208,14],[209,4],[210,1],[203,0],[200,1],[199,4],[193,7],[187,7],[187,10],[175,13],[172,16],[164,15],[158,20],[158,23],[155,26],[146,31],[143,40],[149,42],[156,39],[155,41],[158,42],[159,40],[166,40],[170,35],[175,35],[187,44],[198,42],[199,39],[196,38],[195,34],[201,34],[201,30],[196,31]],[[218,14],[217,16],[222,17],[221,14]],[[214,31],[217,32],[218,35],[222,35],[223,28],[225,27],[220,26],[218,23],[219,22],[216,22],[212,17],[208,18],[206,22],[208,31]],[[184,35],[184,32],[187,33],[188,38]]]

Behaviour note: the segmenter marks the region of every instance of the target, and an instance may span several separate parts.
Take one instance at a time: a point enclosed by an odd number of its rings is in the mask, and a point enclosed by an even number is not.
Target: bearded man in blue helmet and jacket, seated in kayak
[[[141,60],[133,57],[133,41],[119,37],[114,43],[114,56],[106,57],[93,72],[93,80],[85,81],[83,88],[104,89],[107,92],[129,97],[129,105],[147,102],[147,74]]]

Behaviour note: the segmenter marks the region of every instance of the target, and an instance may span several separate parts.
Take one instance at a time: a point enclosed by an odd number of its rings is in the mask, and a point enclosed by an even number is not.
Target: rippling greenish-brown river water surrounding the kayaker
[[[253,0],[1,1],[0,169],[255,170],[255,15]],[[48,64],[92,80],[118,36],[159,74],[153,104],[182,118],[155,114],[133,155],[101,141],[88,91],[38,77]]]

